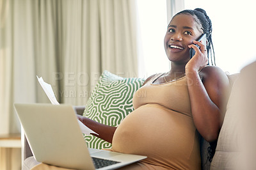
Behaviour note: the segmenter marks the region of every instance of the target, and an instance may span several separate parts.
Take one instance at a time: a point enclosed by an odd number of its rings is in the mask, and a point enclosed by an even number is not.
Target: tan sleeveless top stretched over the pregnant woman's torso
[[[134,93],[134,111],[116,128],[112,150],[147,156],[132,169],[201,169],[186,76],[154,84],[161,75]]]

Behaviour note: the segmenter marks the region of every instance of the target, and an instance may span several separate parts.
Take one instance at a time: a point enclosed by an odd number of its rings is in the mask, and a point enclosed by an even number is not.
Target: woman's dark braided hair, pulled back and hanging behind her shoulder
[[[207,58],[208,58],[208,65],[209,65],[209,52],[211,52],[211,65],[216,65],[215,63],[215,55],[214,55],[214,49],[212,44],[212,22],[211,19],[208,17],[205,10],[201,8],[196,8],[195,10],[183,10],[176,15],[173,16],[173,18],[179,14],[189,14],[195,16],[195,22],[198,23],[198,26],[202,31],[205,33],[207,38]],[[213,53],[213,57],[212,57]]]

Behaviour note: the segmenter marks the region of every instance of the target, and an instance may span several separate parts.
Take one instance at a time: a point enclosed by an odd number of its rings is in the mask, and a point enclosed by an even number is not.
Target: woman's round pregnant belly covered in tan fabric
[[[116,128],[113,151],[146,155],[146,162],[160,164],[186,159],[195,141],[191,117],[161,105],[143,105],[131,112]],[[157,163],[158,162],[158,163]]]

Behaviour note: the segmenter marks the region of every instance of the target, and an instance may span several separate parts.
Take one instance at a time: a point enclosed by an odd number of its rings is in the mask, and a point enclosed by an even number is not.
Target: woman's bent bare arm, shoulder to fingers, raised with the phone
[[[223,123],[221,112],[225,111],[227,104],[229,81],[220,68],[205,66],[208,62],[205,47],[200,42],[194,43],[200,49],[193,44],[189,45],[195,49],[196,54],[185,67],[191,111],[198,132],[206,141],[212,142],[218,139]]]

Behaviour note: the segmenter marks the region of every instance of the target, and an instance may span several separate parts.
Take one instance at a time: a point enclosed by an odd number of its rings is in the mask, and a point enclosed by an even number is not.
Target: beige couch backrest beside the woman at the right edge
[[[211,170],[256,169],[256,61],[239,73],[227,104]]]

